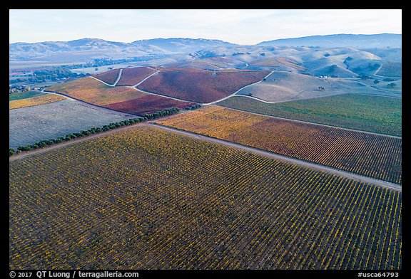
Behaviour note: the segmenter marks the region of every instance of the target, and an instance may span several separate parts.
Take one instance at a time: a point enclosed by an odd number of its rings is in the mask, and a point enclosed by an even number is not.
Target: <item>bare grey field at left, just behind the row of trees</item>
[[[132,117],[86,107],[73,100],[17,108],[9,110],[9,147],[55,139]]]

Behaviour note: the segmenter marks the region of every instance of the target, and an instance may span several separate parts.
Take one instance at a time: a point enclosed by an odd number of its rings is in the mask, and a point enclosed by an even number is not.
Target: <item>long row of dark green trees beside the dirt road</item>
[[[121,120],[120,122],[111,122],[108,125],[103,125],[103,127],[92,127],[89,130],[82,130],[80,132],[75,132],[72,134],[65,135],[64,137],[57,137],[56,139],[44,139],[39,142],[36,142],[34,144],[27,144],[25,146],[20,146],[17,147],[16,149],[14,148],[9,148],[9,157],[13,154],[18,154],[21,151],[30,151],[31,149],[37,149],[41,147],[50,146],[52,144],[57,144],[60,142],[66,142],[71,139],[75,139],[77,137],[85,137],[91,134],[96,134],[99,132],[106,132],[108,130],[113,130],[121,126],[128,126],[128,125],[133,125],[135,123],[143,122],[146,120],[152,120],[156,119],[158,117],[163,117],[166,115],[172,115],[174,113],[179,112],[180,110],[176,107],[167,109],[167,110],[160,110],[158,112],[153,112],[151,114],[147,114],[144,117],[136,117],[136,118],[131,118],[127,120]]]

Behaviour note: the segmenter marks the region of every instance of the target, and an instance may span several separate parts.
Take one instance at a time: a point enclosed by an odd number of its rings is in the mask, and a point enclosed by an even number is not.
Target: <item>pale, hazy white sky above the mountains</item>
[[[400,9],[11,9],[9,42],[208,38],[253,45],[338,33],[402,33]]]

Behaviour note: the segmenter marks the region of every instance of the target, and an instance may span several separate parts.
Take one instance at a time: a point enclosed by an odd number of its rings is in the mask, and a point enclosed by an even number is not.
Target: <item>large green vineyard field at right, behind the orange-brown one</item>
[[[402,135],[402,99],[398,98],[349,93],[268,104],[234,97],[218,102],[218,105],[367,132]]]

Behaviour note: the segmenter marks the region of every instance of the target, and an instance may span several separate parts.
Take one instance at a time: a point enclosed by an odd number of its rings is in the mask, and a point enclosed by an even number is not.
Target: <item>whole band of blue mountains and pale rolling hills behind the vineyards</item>
[[[281,70],[352,78],[362,73],[400,77],[401,34],[337,34],[265,41],[240,46],[204,38],[153,38],[131,43],[82,38],[9,44],[10,65],[86,63],[93,59],[136,60],[133,66],[220,70]],[[17,67],[18,68],[18,67]]]

